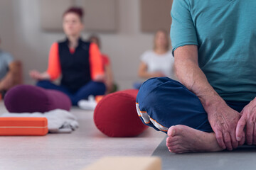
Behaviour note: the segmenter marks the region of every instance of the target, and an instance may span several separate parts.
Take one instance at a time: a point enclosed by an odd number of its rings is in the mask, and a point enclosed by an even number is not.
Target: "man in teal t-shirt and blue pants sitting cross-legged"
[[[137,111],[170,152],[256,145],[256,1],[174,0],[171,42],[181,81],[142,84]]]

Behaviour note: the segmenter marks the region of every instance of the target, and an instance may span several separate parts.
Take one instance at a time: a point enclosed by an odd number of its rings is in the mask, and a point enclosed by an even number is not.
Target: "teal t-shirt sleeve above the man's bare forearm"
[[[190,7],[186,0],[174,0],[171,8],[171,44],[174,50],[184,45],[198,45]]]

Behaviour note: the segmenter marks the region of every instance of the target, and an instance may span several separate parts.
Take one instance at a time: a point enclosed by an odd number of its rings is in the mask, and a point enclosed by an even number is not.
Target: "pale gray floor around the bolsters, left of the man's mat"
[[[0,114],[6,112],[0,102]],[[95,128],[92,111],[73,108],[80,128],[72,134],[0,137],[1,170],[82,169],[105,156],[151,156],[164,133],[146,130],[139,137],[110,138]]]

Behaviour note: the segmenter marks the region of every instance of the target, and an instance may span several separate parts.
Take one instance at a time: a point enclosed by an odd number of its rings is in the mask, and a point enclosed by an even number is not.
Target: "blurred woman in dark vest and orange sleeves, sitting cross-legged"
[[[88,96],[105,94],[102,56],[95,43],[80,37],[84,29],[82,8],[72,7],[63,13],[63,30],[66,40],[53,43],[50,48],[48,70],[30,72],[37,86],[62,91],[70,97],[73,106]],[[62,74],[60,85],[53,84]]]

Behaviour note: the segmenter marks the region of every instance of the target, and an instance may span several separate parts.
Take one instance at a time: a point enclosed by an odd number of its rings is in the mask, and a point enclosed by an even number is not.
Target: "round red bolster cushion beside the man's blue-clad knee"
[[[96,127],[109,137],[134,137],[146,130],[137,114],[137,94],[138,90],[125,90],[102,98],[94,112]]]

